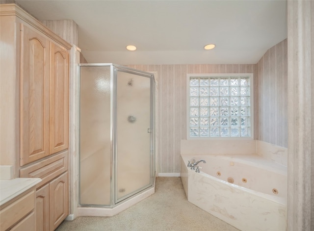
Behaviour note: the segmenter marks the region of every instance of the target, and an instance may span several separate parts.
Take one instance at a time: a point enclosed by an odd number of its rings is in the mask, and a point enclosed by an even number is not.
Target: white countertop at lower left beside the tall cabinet
[[[0,180],[0,205],[19,196],[27,189],[41,181],[40,178],[15,178],[12,180]]]

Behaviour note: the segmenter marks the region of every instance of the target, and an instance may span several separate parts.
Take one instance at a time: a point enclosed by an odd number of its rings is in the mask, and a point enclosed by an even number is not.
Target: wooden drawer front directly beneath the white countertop
[[[7,202],[7,206],[4,204],[4,208],[1,208],[0,210],[1,231],[7,230],[34,209],[35,190],[26,191],[25,194],[22,194],[13,200],[13,202]]]

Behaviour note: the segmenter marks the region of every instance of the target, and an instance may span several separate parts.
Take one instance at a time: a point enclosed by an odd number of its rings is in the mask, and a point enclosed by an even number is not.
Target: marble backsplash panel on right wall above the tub
[[[257,140],[257,154],[276,163],[288,166],[288,149]]]

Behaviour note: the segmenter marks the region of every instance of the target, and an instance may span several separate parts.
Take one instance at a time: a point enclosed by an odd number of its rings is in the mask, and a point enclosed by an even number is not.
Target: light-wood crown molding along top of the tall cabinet
[[[60,38],[59,36],[55,35],[49,28],[44,26],[41,22],[23,10],[16,4],[0,4],[0,16],[16,16],[29,25],[35,27],[40,32],[44,33],[48,36],[52,41],[60,44],[61,46],[65,47],[66,49],[70,50],[72,45]]]

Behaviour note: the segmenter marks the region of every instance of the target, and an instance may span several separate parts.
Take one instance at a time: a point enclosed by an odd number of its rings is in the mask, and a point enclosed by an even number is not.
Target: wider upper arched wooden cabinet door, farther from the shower
[[[49,155],[50,42],[21,24],[20,165]]]

